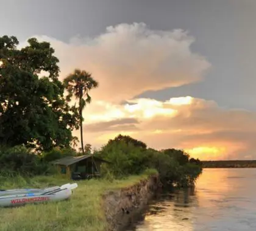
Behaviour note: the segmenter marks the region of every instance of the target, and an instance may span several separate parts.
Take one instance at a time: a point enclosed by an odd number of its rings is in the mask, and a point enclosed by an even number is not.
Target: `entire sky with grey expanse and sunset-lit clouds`
[[[255,159],[256,1],[0,0],[0,36],[49,41],[99,88],[84,143],[118,134],[202,160]],[[79,137],[79,131],[74,132]]]

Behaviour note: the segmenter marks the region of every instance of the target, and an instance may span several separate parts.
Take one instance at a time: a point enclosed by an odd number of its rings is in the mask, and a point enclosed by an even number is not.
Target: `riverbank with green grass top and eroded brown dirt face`
[[[106,231],[118,227],[122,221],[117,222],[122,216],[120,210],[127,214],[140,209],[150,195],[148,192],[154,190],[155,178],[148,179],[149,174],[145,173],[122,180],[79,181],[69,201],[0,209],[0,230]],[[61,176],[18,177],[7,181],[1,179],[0,188],[48,187],[67,182],[71,181]]]

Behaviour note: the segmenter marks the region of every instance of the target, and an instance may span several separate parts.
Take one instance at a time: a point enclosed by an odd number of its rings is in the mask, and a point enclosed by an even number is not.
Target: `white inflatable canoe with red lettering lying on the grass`
[[[77,188],[77,184],[66,184],[60,187],[52,187],[54,189],[42,188],[41,191],[35,193],[21,193],[13,195],[0,196],[0,207],[13,207],[26,204],[38,204],[49,201],[63,201],[72,195],[72,190]],[[15,191],[15,190],[14,190]],[[16,191],[19,191],[17,189]],[[22,189],[20,191],[23,191]]]

